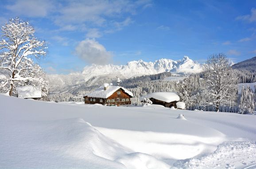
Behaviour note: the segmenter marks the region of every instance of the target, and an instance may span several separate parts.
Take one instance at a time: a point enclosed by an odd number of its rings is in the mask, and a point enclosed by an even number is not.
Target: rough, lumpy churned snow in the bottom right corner
[[[178,161],[182,169],[235,169],[256,164],[256,142],[224,142],[212,154]]]

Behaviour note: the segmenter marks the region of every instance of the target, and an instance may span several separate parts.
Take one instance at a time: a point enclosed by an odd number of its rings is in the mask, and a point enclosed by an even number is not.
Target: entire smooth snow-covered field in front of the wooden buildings
[[[28,168],[255,169],[256,115],[0,95],[0,169]]]

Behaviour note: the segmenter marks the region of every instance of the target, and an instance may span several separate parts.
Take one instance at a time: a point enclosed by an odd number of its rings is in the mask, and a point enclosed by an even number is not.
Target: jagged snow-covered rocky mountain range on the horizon
[[[129,61],[126,65],[90,65],[85,66],[82,74],[85,75],[85,81],[89,78],[99,75],[116,75],[121,77],[135,77],[147,74],[156,74],[163,72],[173,73],[198,73],[202,71],[202,65],[194,63],[188,56],[182,60],[174,61],[162,58],[155,62],[146,62],[143,60]]]

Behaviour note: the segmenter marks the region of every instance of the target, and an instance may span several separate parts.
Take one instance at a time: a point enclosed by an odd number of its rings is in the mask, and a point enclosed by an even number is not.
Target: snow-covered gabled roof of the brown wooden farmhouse
[[[120,86],[108,86],[106,90],[104,90],[104,86],[101,86],[101,87],[97,88],[94,92],[91,92],[91,93],[89,93],[85,96],[106,99],[109,96],[111,96],[114,92],[116,92],[116,90],[118,90],[120,88],[123,89],[124,92],[126,92],[128,95],[133,97],[132,92],[130,92],[126,88],[123,88],[123,87],[120,87]]]

